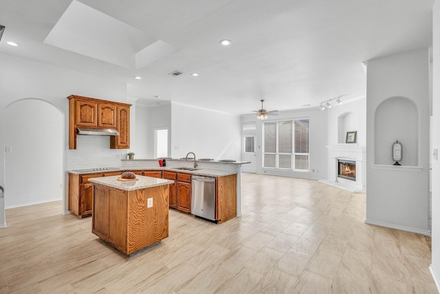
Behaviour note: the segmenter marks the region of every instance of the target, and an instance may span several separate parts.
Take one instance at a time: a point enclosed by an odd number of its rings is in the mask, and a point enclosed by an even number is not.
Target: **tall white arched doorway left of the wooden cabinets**
[[[63,113],[27,98],[8,105],[4,121],[5,209],[62,200]]]

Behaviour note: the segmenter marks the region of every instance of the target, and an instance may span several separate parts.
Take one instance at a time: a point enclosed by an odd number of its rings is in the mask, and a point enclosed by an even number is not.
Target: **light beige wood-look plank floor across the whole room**
[[[364,224],[364,194],[256,174],[241,188],[240,218],[170,210],[170,236],[133,258],[61,202],[8,209],[0,293],[437,293],[425,236]]]

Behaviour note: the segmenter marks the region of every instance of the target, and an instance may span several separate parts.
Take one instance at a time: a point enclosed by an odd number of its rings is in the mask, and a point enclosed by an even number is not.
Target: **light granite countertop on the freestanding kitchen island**
[[[136,176],[137,180],[124,182],[118,180],[120,176],[107,176],[102,178],[89,178],[90,182],[96,184],[113,187],[124,191],[134,191],[139,189],[146,189],[156,186],[173,184],[173,180],[165,180],[163,178],[152,178],[148,176]]]

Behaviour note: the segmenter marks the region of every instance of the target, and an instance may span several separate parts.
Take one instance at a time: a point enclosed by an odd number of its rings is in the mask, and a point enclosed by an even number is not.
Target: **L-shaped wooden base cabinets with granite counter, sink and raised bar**
[[[197,161],[196,169],[194,169],[195,161]],[[207,176],[216,178],[216,219],[225,222],[241,216],[241,165],[246,163],[249,162],[167,158],[166,166],[161,167],[157,159],[135,159],[121,160],[120,165],[113,167],[72,169],[68,171],[69,211],[80,218],[91,216],[93,190],[89,178],[116,176],[122,171],[133,171],[141,176],[173,180],[175,185],[170,185],[170,208],[191,213],[188,207],[191,193],[190,178]],[[180,204],[179,200],[181,200]]]

